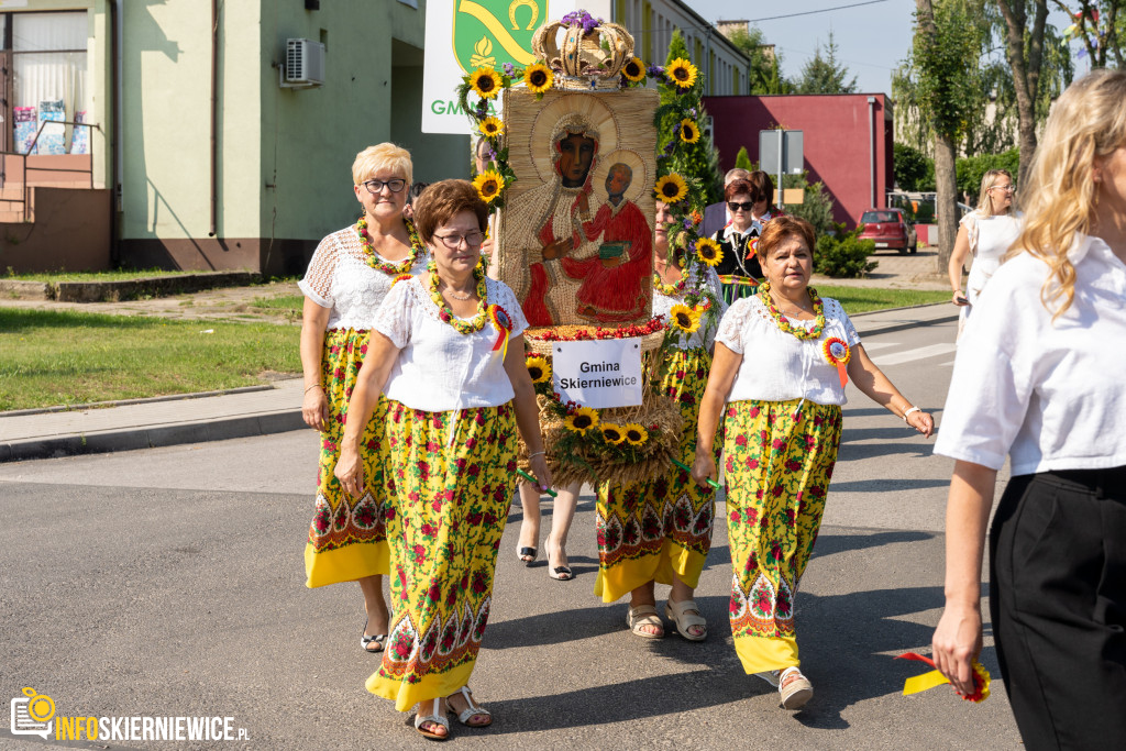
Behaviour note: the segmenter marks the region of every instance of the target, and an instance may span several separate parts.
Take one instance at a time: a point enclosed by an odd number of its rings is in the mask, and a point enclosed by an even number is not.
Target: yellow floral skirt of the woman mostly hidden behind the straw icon
[[[696,420],[712,356],[704,349],[673,349],[661,368],[661,390],[685,419],[679,458],[696,456]],[[717,436],[721,433],[717,432]],[[715,442],[716,461],[722,438]],[[712,547],[715,491],[701,490],[672,466],[643,483],[602,483],[598,489],[598,579],[595,594],[613,602],[649,581],[671,584],[676,575],[695,588]]]

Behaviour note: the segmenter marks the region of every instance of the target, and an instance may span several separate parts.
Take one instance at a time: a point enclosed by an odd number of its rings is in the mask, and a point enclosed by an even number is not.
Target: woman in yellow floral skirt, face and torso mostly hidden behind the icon
[[[667,225],[672,222],[668,207],[656,203],[655,250],[653,253],[653,315],[683,321],[687,337],[681,337],[662,350],[660,365],[661,391],[680,406],[683,432],[678,458],[688,465],[695,456],[696,415],[699,400],[712,366],[714,324],[700,321],[705,303],[689,307],[687,295],[704,286],[720,305],[717,320],[726,310],[720,280],[709,266],[703,268],[704,284],[697,271],[685,274],[678,263],[669,262]],[[705,297],[705,299],[707,299]],[[694,301],[695,302],[695,301]],[[614,426],[602,424],[602,432]],[[656,614],[655,583],[672,587],[665,601],[664,615],[677,625],[685,638],[699,642],[707,636],[707,622],[692,601],[708,549],[712,547],[712,524],[715,493],[699,488],[681,468],[672,467],[660,477],[626,485],[605,483],[598,489],[598,581],[595,594],[613,602],[629,594],[627,624],[643,638],[664,636],[664,624]]]

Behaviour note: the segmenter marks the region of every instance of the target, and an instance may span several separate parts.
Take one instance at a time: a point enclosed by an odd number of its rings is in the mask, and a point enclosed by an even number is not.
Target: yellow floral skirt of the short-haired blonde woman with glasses
[[[332,329],[324,332],[321,384],[329,400],[329,420],[328,428],[321,432],[316,506],[305,543],[306,587],[355,581],[390,570],[384,529],[387,495],[383,481],[383,467],[387,463],[384,438],[387,402],[383,396],[364,428],[364,494],[356,500],[332,475],[340,459],[345,413],[364,364],[367,340],[367,331]]]

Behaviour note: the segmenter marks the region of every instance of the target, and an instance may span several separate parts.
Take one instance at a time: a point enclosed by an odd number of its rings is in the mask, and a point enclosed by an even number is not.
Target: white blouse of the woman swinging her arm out
[[[806,399],[817,404],[842,405],[848,401],[837,366],[825,359],[821,346],[826,339],[837,337],[852,347],[860,343],[860,334],[840,303],[832,297],[821,301],[825,325],[816,339],[798,339],[779,329],[758,295],[732,303],[715,338],[743,356],[727,394],[729,402]],[[813,328],[813,321],[790,321],[790,324],[806,330]]]

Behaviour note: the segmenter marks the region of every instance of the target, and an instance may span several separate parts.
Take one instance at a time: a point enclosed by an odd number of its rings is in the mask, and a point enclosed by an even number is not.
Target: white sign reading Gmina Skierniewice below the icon
[[[641,339],[557,341],[552,379],[564,402],[604,409],[642,403]]]

